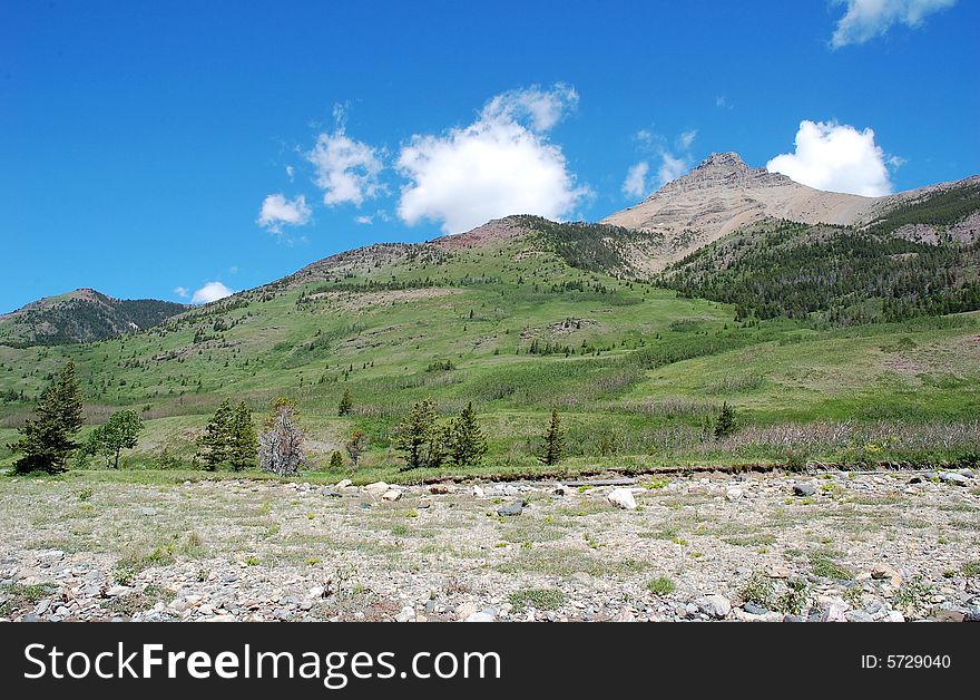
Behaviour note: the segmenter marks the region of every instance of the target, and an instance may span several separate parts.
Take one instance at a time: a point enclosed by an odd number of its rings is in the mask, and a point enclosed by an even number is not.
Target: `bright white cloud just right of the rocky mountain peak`
[[[836,121],[800,123],[796,150],[766,164],[772,173],[832,192],[876,197],[892,192],[889,156],[874,143],[874,132]]]

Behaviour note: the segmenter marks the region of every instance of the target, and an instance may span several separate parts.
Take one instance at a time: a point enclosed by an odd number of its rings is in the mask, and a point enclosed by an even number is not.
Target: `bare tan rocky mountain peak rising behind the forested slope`
[[[639,204],[607,216],[602,223],[663,235],[659,253],[648,261],[649,269],[660,270],[763,218],[861,226],[893,208],[971,184],[980,184],[980,177],[862,197],[814,189],[785,175],[749,167],[736,153],[721,153],[712,154],[687,175],[667,183]]]

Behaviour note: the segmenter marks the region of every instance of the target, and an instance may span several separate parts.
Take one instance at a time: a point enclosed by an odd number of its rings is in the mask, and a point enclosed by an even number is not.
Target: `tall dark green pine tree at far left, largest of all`
[[[65,471],[68,457],[78,448],[75,436],[81,429],[81,409],[75,362],[69,360],[38,398],[36,418],[20,428],[19,440],[8,445],[13,451],[23,453],[13,464],[14,471]]]

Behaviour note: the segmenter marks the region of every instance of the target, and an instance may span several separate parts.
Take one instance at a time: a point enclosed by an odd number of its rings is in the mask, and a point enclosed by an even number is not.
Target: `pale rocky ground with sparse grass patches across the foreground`
[[[973,474],[3,479],[0,618],[980,619]]]

